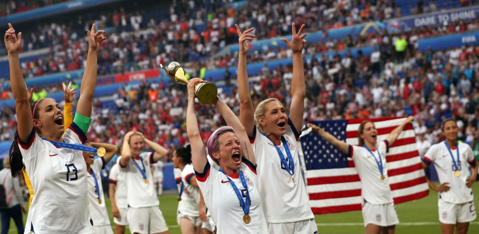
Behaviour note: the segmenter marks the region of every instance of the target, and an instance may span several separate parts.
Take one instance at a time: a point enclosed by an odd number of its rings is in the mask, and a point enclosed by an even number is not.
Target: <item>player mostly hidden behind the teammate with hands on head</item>
[[[110,169],[109,197],[111,202],[111,214],[115,223],[115,234],[124,234],[127,220],[127,186],[125,185],[124,174],[120,173],[118,164]]]

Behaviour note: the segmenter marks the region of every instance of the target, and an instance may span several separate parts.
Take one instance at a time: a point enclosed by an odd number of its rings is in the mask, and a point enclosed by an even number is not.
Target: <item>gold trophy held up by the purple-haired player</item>
[[[166,74],[176,83],[188,85],[188,80],[185,77],[185,71],[179,62],[170,62],[168,67],[165,68],[163,64],[160,67],[166,71]],[[199,83],[195,87],[195,95],[201,104],[210,104],[216,99],[218,95],[218,89],[216,86],[209,82]]]

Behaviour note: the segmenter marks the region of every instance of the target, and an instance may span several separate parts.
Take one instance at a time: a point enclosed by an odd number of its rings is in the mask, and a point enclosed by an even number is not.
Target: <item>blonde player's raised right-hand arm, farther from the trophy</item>
[[[297,132],[301,132],[303,127],[303,114],[305,113],[305,70],[303,64],[303,48],[305,47],[306,33],[303,33],[305,25],[302,25],[296,33],[296,26],[291,24],[292,38],[291,41],[281,38],[293,52],[293,79],[291,82],[291,106],[289,108],[289,119],[294,124]]]

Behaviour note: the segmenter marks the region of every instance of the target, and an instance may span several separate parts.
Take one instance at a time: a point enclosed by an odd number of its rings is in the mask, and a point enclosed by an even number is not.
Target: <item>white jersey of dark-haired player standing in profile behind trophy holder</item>
[[[194,176],[195,170],[193,170],[193,165],[185,165],[181,174],[181,179],[185,187],[181,203],[178,204],[178,212],[197,217],[200,215],[200,191],[190,184],[190,179]]]

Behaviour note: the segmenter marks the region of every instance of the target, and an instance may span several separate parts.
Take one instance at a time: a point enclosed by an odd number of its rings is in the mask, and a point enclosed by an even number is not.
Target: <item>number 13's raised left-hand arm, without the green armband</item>
[[[18,55],[22,43],[22,33],[20,32],[16,35],[12,24],[9,23],[8,25],[9,29],[5,32],[4,41],[10,65],[10,85],[12,86],[12,93],[15,98],[18,136],[20,140],[26,141],[33,129],[33,117]]]

